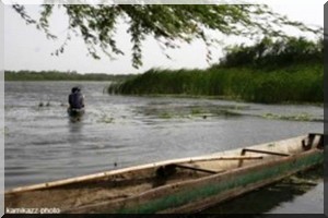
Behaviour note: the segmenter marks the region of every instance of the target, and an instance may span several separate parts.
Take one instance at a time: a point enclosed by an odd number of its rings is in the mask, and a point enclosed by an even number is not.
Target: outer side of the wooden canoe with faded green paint
[[[323,161],[324,156],[321,153],[308,152],[302,157],[241,168],[226,173],[198,179],[197,181],[180,182],[115,204],[104,202],[98,205],[69,210],[69,213],[197,213],[229,198],[277,182],[295,172],[320,165]]]

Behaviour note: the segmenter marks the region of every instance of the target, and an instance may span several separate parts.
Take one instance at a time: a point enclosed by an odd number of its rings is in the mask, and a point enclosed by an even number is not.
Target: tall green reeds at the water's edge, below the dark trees
[[[298,63],[274,70],[249,66],[208,70],[150,70],[117,83],[126,95],[216,96],[254,102],[323,102],[324,64]]]

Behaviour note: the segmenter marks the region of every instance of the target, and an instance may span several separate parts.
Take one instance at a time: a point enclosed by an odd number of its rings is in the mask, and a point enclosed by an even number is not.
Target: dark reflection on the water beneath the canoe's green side
[[[219,204],[201,214],[256,214],[254,217],[267,217],[268,214],[279,214],[283,211],[282,203],[294,202],[304,196],[305,193],[315,191],[323,183],[324,166],[318,168],[300,172],[294,177],[286,178],[272,185],[268,185],[257,191],[247,193],[241,197]],[[324,193],[321,193],[324,195]],[[313,198],[313,196],[312,196]],[[302,205],[289,204],[285,211],[293,214],[304,213],[304,206],[311,210],[315,208],[312,206],[313,199],[304,201]],[[320,203],[321,205],[324,203]],[[302,207],[303,206],[303,207]],[[317,207],[316,207],[317,209]],[[297,213],[298,211],[298,213]],[[320,214],[323,211],[311,211],[312,214]],[[261,216],[259,216],[261,214]],[[208,217],[208,216],[206,216]]]

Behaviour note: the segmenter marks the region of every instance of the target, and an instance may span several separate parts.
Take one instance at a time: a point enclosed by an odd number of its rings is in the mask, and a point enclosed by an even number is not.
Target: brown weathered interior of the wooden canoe
[[[104,202],[115,204],[166,185],[197,181],[233,169],[263,165],[318,149],[321,137],[307,135],[285,141],[248,147],[250,152],[234,149],[209,156],[184,158],[113,170],[105,173],[55,181],[35,186],[23,186],[7,191],[4,206],[9,208],[60,208],[70,211]],[[304,140],[304,141],[303,141]],[[303,141],[303,143],[302,143]],[[311,143],[313,146],[306,148]],[[255,153],[251,150],[265,150]],[[288,155],[288,156],[286,156]]]

